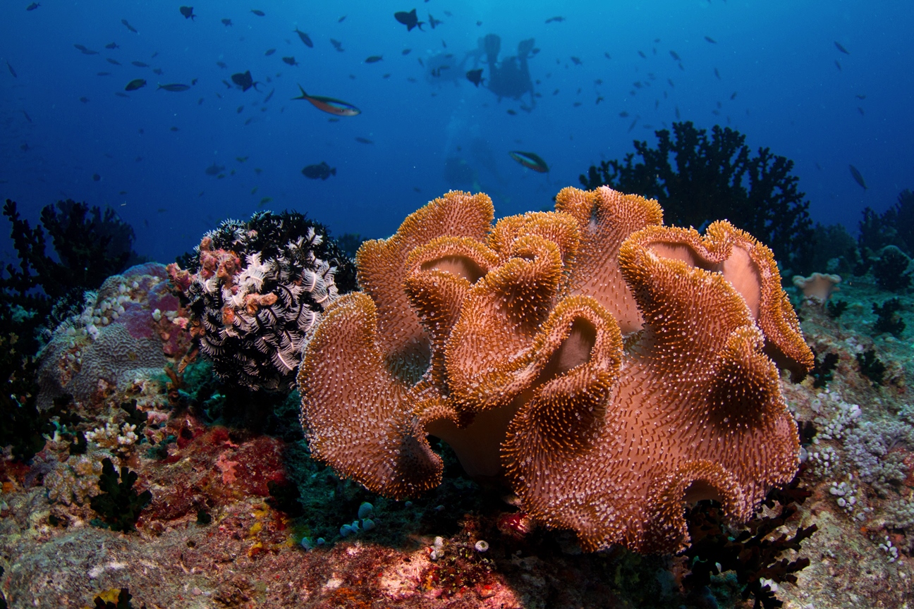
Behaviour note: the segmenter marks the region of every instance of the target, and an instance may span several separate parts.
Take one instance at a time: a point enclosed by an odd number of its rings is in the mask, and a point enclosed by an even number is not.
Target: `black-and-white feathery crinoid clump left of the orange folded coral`
[[[251,390],[292,389],[308,332],[356,287],[355,266],[326,228],[295,212],[227,220],[168,273],[214,372]]]

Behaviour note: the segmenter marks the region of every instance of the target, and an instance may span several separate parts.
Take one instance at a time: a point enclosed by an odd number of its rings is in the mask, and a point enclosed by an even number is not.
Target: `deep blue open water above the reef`
[[[188,0],[194,19],[179,2],[38,4],[0,5],[0,198],[33,225],[58,199],[110,205],[134,227],[135,249],[164,262],[258,209],[296,209],[337,236],[367,237],[388,236],[452,188],[490,194],[497,215],[541,209],[590,164],[655,142],[677,110],[792,159],[813,219],[852,233],[864,207],[883,211],[914,187],[907,1]],[[412,8],[421,30],[394,18]],[[433,29],[430,15],[441,21]],[[498,100],[484,57],[484,86],[465,78],[489,34],[501,38],[499,59],[535,39],[539,96]],[[223,83],[248,70],[259,90]],[[133,79],[147,84],[125,92]],[[156,89],[194,79],[186,91]],[[361,113],[331,121],[292,100],[299,85]],[[515,163],[514,150],[550,171]],[[301,173],[322,162],[335,175]],[[207,174],[214,164],[224,169]],[[3,258],[15,259],[4,239]]]

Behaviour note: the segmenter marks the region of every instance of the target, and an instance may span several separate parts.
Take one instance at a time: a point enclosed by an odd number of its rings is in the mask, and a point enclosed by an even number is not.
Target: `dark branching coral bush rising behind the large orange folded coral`
[[[716,125],[708,137],[691,122],[675,122],[672,137],[665,129],[655,134],[656,148],[634,142],[635,152],[622,161],[590,166],[580,183],[655,198],[667,225],[703,230],[717,218],[727,218],[771,247],[781,266],[807,270],[813,223],[809,202],[797,190],[799,178],[791,174],[791,160],[768,148],[752,156],[746,136],[728,127]]]

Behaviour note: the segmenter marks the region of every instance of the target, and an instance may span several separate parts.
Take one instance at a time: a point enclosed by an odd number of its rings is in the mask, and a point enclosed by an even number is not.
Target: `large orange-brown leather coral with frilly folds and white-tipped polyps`
[[[403,499],[440,482],[441,437],[588,551],[682,550],[686,502],[748,520],[790,481],[774,362],[813,355],[768,247],[607,187],[493,216],[451,192],[359,250],[365,291],[330,307],[298,377],[314,457]]]

